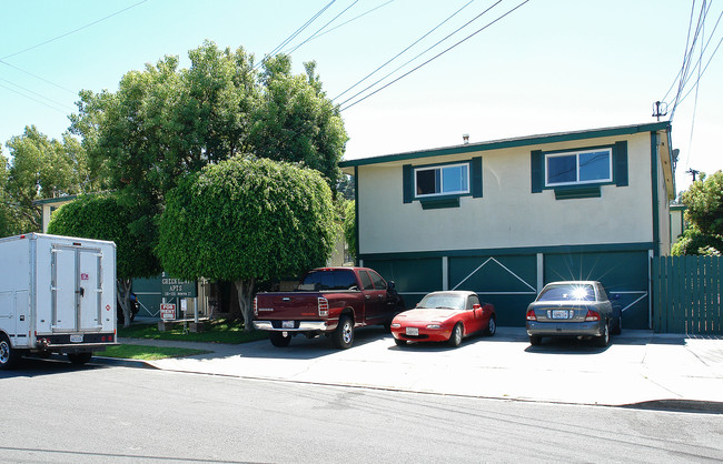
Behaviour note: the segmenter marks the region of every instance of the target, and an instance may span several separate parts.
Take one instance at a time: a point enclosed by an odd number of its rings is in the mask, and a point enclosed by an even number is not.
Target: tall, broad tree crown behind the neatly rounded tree
[[[71,130],[109,188],[160,212],[182,174],[249,152],[303,161],[336,180],[347,137],[313,64],[293,75],[281,56],[259,73],[242,48],[209,41],[188,56],[189,69],[165,57],[128,72],[115,93],[80,93]]]

